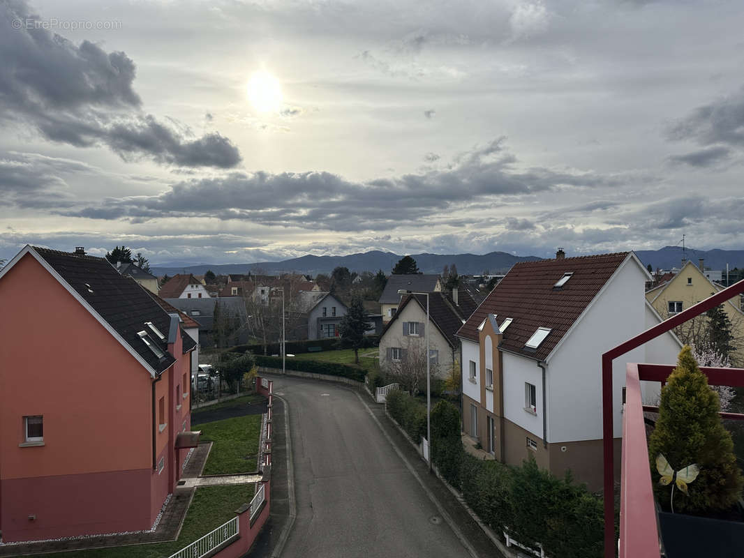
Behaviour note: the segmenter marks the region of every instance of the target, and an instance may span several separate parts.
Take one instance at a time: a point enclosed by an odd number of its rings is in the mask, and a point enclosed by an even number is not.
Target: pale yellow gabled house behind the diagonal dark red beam
[[[686,261],[682,269],[667,280],[646,292],[649,301],[656,311],[663,317],[678,314],[693,304],[705,300],[709,296],[725,289],[719,283],[713,283],[705,275],[703,260],[699,260],[696,266],[691,261]],[[741,310],[740,298],[734,297],[723,305],[723,309],[731,320],[731,333],[734,336],[734,364],[744,364],[744,312]],[[699,316],[693,321],[687,321],[678,328],[683,341],[694,342],[702,335],[708,324],[705,316]]]

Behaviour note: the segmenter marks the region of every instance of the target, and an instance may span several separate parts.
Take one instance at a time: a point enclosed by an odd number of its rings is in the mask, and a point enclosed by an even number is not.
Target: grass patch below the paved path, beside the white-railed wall
[[[60,552],[42,554],[43,557],[56,558],[163,558],[190,545],[205,536],[228,519],[235,516],[235,510],[251,501],[255,493],[254,484],[233,484],[222,487],[197,488],[193,501],[186,514],[186,520],[179,538],[170,542],[156,542],[152,545],[119,546],[97,548],[90,551]]]

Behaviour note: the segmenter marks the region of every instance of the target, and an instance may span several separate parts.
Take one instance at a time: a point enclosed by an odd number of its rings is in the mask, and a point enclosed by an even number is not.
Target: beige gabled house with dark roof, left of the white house
[[[431,292],[427,322],[426,295],[405,295],[379,338],[380,368],[394,373],[406,359],[426,353],[428,329],[432,376],[446,377],[453,365],[459,365],[460,341],[455,334],[474,310],[475,301],[467,292]]]

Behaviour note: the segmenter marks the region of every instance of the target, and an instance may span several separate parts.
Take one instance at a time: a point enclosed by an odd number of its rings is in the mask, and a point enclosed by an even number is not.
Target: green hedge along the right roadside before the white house
[[[426,432],[426,408],[400,391],[387,398],[388,411],[414,440]],[[419,417],[420,422],[411,420]],[[432,460],[441,475],[459,487],[467,504],[496,533],[504,526],[522,544],[542,544],[555,558],[601,557],[602,500],[571,475],[557,478],[530,458],[521,466],[484,461],[467,454],[460,438],[460,413],[440,401],[432,409]],[[411,431],[416,433],[414,436]]]

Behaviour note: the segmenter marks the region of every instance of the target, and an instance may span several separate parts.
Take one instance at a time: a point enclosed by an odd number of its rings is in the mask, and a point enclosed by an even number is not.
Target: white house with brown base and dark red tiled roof
[[[459,330],[464,431],[498,461],[532,456],[598,490],[601,355],[661,317],[644,299],[649,275],[632,252],[557,256],[513,266]],[[618,460],[624,362],[673,362],[679,349],[669,333],[615,362]]]

